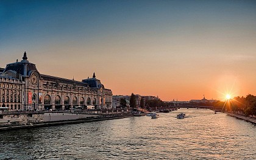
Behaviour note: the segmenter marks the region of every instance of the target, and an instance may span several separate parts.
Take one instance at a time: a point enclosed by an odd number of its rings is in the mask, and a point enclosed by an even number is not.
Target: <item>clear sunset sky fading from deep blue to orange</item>
[[[93,72],[114,95],[256,94],[256,1],[0,1],[0,67]]]

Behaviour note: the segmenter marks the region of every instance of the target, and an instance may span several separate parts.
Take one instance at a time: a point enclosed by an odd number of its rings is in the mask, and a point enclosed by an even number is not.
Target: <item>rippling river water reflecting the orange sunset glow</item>
[[[179,112],[185,119],[176,119]],[[0,132],[0,159],[256,159],[256,125],[211,110]]]

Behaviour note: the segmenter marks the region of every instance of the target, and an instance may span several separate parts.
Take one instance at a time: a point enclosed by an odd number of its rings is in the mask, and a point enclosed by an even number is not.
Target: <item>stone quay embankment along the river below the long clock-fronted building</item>
[[[92,122],[108,119],[131,117],[130,113],[108,114],[102,112],[82,111],[21,111],[0,113],[0,131],[18,128],[44,127],[66,123]]]

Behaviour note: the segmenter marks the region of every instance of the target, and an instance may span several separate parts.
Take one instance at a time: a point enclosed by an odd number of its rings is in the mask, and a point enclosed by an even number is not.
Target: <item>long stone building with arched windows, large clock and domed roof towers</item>
[[[0,110],[69,110],[112,108],[112,91],[93,73],[82,82],[40,74],[23,60],[0,68]]]

